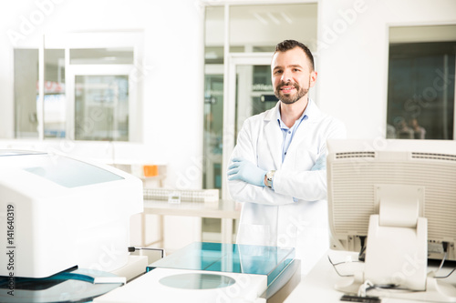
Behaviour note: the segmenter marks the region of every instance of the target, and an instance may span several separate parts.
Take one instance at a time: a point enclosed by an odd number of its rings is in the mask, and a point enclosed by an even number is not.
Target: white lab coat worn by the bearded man
[[[248,118],[233,149],[232,159],[243,157],[266,171],[275,170],[274,190],[228,181],[233,199],[244,202],[236,242],[295,247],[295,258],[302,260],[305,275],[329,248],[326,170],[310,169],[318,157],[326,157],[326,140],[344,138],[346,128],[309,100],[308,118],[297,128],[282,163],[283,134],[276,119],[279,105],[280,101],[273,109]]]

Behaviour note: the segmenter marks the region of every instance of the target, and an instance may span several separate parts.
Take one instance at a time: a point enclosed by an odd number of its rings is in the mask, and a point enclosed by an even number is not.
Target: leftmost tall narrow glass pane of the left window
[[[38,50],[15,49],[15,136],[37,138]]]

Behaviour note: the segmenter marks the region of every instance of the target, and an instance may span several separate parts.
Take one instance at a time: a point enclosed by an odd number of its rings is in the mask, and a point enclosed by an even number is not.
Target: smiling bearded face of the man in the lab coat
[[[316,72],[306,53],[297,46],[285,52],[276,52],[271,70],[275,96],[285,104],[293,104],[307,96],[309,88],[316,83]]]

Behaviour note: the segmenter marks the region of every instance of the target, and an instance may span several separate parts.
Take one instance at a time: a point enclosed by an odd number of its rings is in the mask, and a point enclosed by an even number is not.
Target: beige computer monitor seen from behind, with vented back
[[[427,230],[421,228],[424,240],[414,241],[425,242],[424,258],[442,259],[446,252],[447,260],[456,260],[456,141],[335,139],[328,140],[327,149],[331,248],[368,250],[371,215],[378,215],[380,227],[382,221],[399,222],[406,232],[410,222],[418,230],[420,217]],[[411,209],[408,214],[404,205]],[[390,235],[396,237],[394,232]],[[382,247],[380,253],[399,249],[401,241]],[[414,253],[406,257],[413,258]]]

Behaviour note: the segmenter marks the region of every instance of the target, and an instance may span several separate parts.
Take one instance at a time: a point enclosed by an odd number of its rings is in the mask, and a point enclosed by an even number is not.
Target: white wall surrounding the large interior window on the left
[[[79,146],[84,146],[84,156],[95,158],[115,154],[136,161],[166,163],[167,187],[201,188],[203,11],[197,4],[186,0],[21,0],[3,4],[0,138],[14,137],[13,44],[8,33],[26,33],[18,42],[37,45],[43,34],[140,29],[145,33],[144,145],[73,142],[73,149],[65,150],[60,148],[61,143],[52,146],[69,154],[80,154]],[[25,31],[24,19],[35,23],[33,28]],[[11,146],[9,142],[5,145]]]

